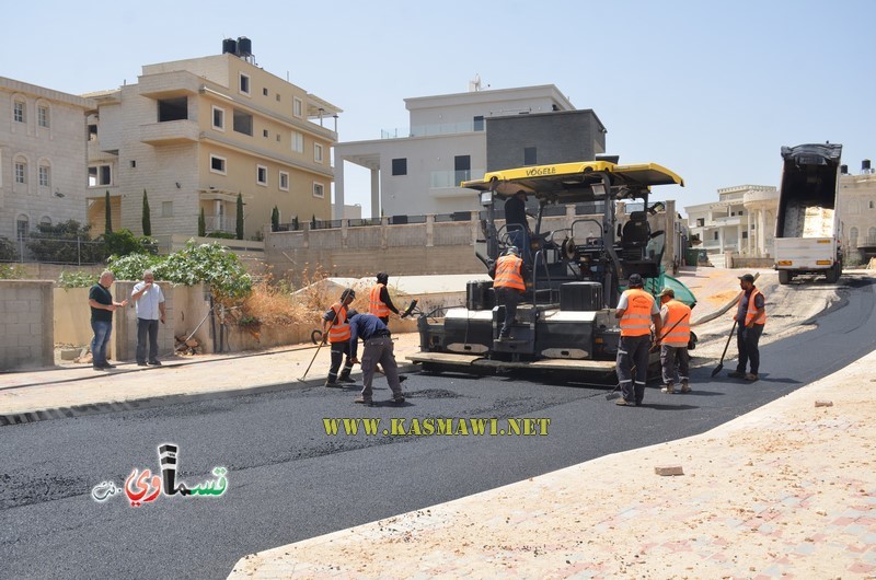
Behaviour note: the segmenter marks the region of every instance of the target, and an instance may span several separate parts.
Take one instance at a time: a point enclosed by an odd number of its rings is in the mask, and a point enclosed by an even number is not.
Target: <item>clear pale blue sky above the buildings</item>
[[[403,100],[555,84],[608,128],[608,153],[684,177],[679,209],[740,184],[779,185],[783,144],[876,158],[876,2],[867,0],[212,2],[7,7],[0,74],[73,94],[136,82],[141,66],[221,53],[339,106],[341,141],[406,127]],[[368,182],[347,202],[369,213]],[[355,190],[354,190],[355,189]],[[658,195],[658,197],[660,197]]]

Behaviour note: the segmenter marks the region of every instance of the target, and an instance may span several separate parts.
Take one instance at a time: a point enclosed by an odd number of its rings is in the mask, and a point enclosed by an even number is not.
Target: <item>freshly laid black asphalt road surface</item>
[[[842,300],[815,329],[763,347],[759,382],[710,379],[713,367],[703,367],[692,373],[693,393],[662,395],[655,383],[638,408],[618,407],[607,388],[586,385],[417,374],[405,383],[402,407],[362,408],[351,403],[355,390],[290,385],[2,427],[0,577],[224,578],[253,552],[703,432],[869,352],[872,282],[843,278]],[[377,383],[374,398],[390,398]],[[396,431],[410,431],[414,419],[460,417],[497,419],[487,431],[516,426],[541,434],[383,434],[393,418],[405,419]],[[332,436],[326,418],[381,422],[377,434],[343,434],[342,422]],[[135,468],[159,474],[157,448],[165,442],[178,445],[177,482],[216,483],[214,468],[224,467],[222,494],[159,496],[141,507],[125,494],[92,498],[96,485],[120,488]]]

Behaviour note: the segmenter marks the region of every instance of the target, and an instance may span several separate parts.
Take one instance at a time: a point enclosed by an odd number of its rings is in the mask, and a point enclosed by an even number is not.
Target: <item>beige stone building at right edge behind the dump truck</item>
[[[850,263],[876,256],[876,173],[864,160],[862,173],[840,176],[840,240]]]

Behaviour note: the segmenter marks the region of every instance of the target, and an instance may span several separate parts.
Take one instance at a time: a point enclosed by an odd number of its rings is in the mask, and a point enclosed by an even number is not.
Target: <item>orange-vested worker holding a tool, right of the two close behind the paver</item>
[[[661,392],[672,394],[676,392],[676,362],[678,362],[678,381],[681,392],[690,393],[690,358],[688,343],[691,339],[691,309],[683,302],[676,300],[676,291],[664,288],[660,292],[660,321],[662,332],[660,337],[660,367],[664,374]]]

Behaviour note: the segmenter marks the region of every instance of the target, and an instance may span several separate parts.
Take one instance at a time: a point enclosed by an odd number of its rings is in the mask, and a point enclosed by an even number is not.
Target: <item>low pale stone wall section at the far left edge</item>
[[[55,363],[51,285],[0,280],[0,371]]]

